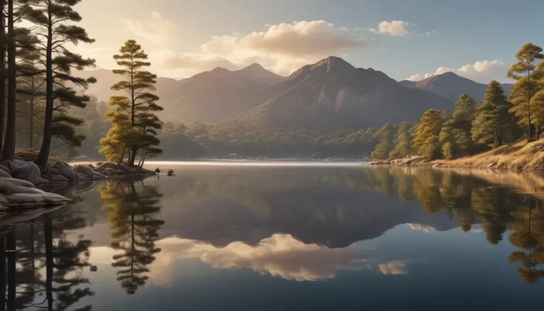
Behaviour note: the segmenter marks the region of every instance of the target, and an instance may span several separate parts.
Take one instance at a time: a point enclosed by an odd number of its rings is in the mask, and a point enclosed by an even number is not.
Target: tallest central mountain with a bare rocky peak
[[[334,130],[416,122],[429,108],[453,108],[453,101],[402,86],[383,72],[355,68],[339,57],[302,67],[274,89],[276,96],[237,120]]]

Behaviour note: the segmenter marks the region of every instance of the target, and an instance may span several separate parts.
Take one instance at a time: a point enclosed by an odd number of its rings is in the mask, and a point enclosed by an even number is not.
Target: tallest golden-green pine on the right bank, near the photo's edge
[[[527,43],[516,53],[516,59],[518,62],[512,64],[508,72],[508,77],[517,81],[509,95],[514,105],[510,112],[516,115],[520,125],[526,125],[527,141],[531,142],[535,136],[533,114],[538,110],[531,99],[540,88],[537,82],[543,74],[535,69],[538,60],[544,59],[544,54],[541,47]]]

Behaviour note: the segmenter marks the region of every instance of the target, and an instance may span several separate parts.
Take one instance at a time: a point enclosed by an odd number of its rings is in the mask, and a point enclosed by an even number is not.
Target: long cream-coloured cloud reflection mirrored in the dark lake
[[[290,234],[273,234],[256,246],[233,242],[226,247],[194,239],[169,237],[156,242],[161,251],[149,266],[149,280],[169,285],[174,283],[171,273],[176,259],[200,259],[213,268],[251,268],[253,271],[295,281],[322,281],[336,277],[337,271],[377,269],[384,274],[405,274],[402,261],[376,266],[368,257],[368,250],[347,247],[329,249],[317,244],[304,244]],[[108,247],[91,247],[92,264],[111,264],[118,251]]]

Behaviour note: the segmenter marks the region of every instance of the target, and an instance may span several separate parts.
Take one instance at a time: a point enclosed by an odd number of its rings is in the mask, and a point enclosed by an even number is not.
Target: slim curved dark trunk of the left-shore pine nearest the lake
[[[47,51],[45,53],[45,79],[46,79],[46,99],[45,99],[45,119],[43,125],[43,141],[38,157],[34,160],[40,169],[45,169],[49,152],[51,149],[53,106],[55,98],[53,97],[53,52],[52,52],[52,22],[51,13],[49,15],[49,26],[47,27]]]

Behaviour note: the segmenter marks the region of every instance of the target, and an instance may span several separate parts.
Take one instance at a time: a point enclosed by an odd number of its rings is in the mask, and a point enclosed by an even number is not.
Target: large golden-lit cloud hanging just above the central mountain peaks
[[[346,55],[366,45],[366,38],[347,28],[337,28],[327,21],[298,21],[269,25],[266,30],[253,33],[215,35],[197,50],[176,55],[175,62],[179,69],[202,69],[208,65],[187,60],[222,60],[237,67],[259,62],[273,72],[288,75],[305,64],[330,55]],[[163,65],[168,62],[174,60],[164,60]]]

